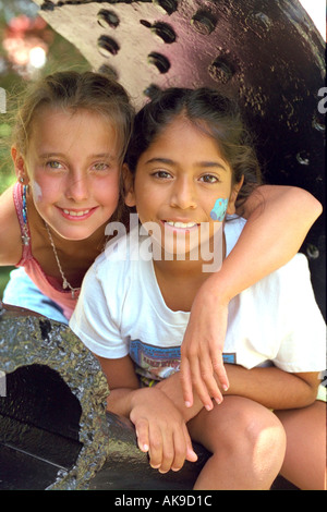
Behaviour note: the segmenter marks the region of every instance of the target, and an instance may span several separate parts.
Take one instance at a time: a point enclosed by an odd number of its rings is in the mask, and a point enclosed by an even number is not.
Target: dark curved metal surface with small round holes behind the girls
[[[35,0],[94,70],[113,73],[136,106],[159,87],[234,95],[267,183],[301,186],[325,205],[325,44],[298,0]],[[325,218],[302,252],[326,310]]]

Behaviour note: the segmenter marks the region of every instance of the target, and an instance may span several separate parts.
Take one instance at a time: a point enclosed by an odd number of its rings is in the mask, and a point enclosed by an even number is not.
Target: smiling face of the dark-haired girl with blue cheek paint
[[[177,253],[180,236],[191,252],[203,242],[204,225],[210,239],[225,214],[234,214],[241,184],[232,185],[232,171],[214,138],[180,117],[141,156],[126,204],[136,206],[143,224],[160,228],[166,251]]]

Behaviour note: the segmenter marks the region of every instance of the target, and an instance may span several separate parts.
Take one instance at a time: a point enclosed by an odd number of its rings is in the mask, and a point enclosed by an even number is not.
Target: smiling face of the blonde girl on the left
[[[97,113],[44,108],[37,114],[26,158],[14,158],[16,173],[27,173],[38,214],[62,237],[87,239],[112,216],[117,149],[113,127]]]

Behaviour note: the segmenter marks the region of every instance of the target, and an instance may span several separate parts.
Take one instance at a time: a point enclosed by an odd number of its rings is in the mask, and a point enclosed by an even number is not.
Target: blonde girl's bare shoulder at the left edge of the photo
[[[0,265],[15,265],[21,257],[21,228],[11,186],[0,196]]]

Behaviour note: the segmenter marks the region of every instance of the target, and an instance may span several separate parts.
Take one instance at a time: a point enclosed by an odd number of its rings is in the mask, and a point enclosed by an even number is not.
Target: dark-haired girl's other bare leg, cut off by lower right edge
[[[276,415],[287,434],[282,476],[303,490],[326,490],[326,403]]]

